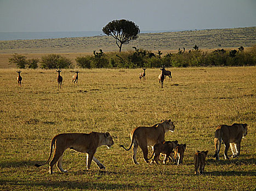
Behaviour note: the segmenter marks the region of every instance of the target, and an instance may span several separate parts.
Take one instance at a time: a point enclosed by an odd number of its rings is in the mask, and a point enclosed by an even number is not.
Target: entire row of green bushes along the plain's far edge
[[[211,67],[211,66],[250,66],[256,65],[256,45],[244,51],[242,46],[237,50],[217,49],[203,52],[197,45],[192,50],[179,49],[177,53],[163,55],[159,50],[153,53],[137,49],[126,52],[104,53],[94,51],[92,56],[76,57],[79,68],[158,68],[166,67]],[[14,54],[9,63],[15,63],[18,68],[74,68],[71,59],[58,54],[49,54],[39,59],[26,59],[25,56]]]

